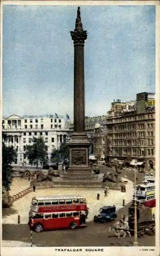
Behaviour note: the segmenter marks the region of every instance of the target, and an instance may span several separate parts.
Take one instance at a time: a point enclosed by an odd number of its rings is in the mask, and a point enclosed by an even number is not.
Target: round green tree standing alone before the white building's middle
[[[33,137],[32,141],[33,145],[26,146],[26,156],[30,163],[35,163],[38,168],[39,161],[42,161],[43,164],[47,162],[47,145],[45,145],[43,137]]]

